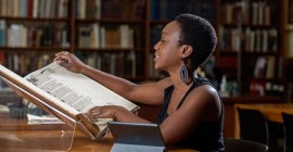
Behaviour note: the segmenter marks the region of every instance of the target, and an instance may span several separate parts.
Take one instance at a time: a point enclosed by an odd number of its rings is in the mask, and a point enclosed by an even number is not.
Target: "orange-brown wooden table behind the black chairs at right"
[[[247,110],[259,110],[265,118],[270,122],[283,123],[282,113],[293,114],[293,103],[266,103],[266,104],[234,104],[235,112],[235,138],[240,138],[240,126],[239,126],[239,116],[237,107],[247,109]]]

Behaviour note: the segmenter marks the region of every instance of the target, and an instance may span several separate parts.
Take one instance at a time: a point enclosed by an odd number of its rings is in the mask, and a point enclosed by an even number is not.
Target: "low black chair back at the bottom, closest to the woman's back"
[[[268,145],[243,139],[227,138],[224,140],[226,152],[267,152]]]

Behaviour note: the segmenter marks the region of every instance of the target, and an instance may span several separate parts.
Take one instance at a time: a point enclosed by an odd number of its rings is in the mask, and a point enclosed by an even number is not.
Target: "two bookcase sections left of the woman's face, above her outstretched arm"
[[[145,0],[0,2],[0,63],[17,74],[26,75],[67,50],[107,73],[146,78]]]

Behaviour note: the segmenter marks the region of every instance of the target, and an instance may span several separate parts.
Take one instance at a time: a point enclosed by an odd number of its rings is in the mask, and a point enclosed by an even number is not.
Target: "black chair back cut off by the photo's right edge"
[[[293,114],[282,113],[284,130],[284,152],[293,152]]]

